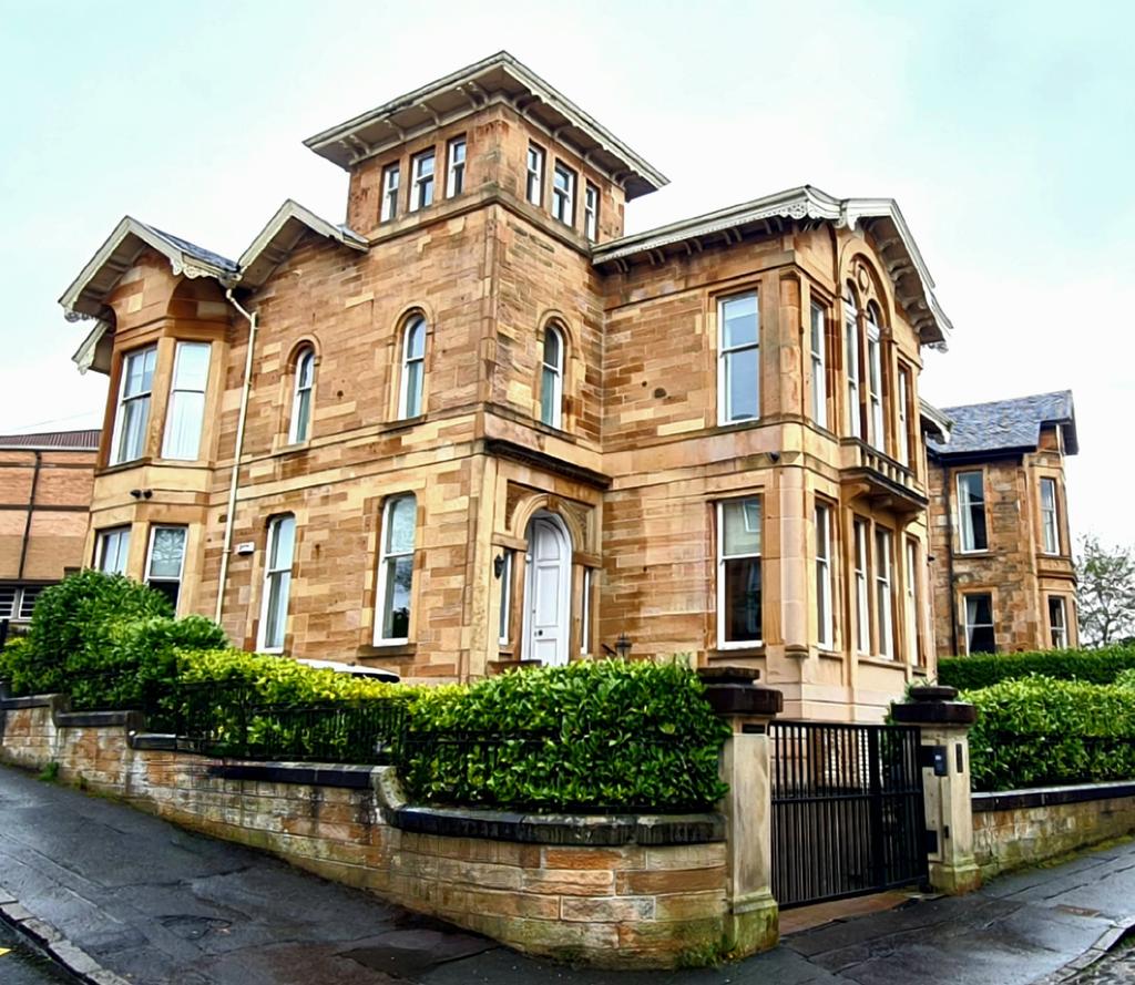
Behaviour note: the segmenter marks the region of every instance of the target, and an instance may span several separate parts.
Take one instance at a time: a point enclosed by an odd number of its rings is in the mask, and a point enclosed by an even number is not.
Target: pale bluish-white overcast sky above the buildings
[[[955,325],[939,406],[1070,388],[1075,537],[1135,545],[1135,5],[0,0],[0,432],[98,427],[57,298],[129,213],[238,256],[304,137],[502,48],[671,184],[638,231],[801,184],[899,202]]]

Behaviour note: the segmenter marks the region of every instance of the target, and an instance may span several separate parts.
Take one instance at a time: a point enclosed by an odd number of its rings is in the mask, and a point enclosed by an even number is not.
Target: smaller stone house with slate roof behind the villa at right
[[[928,443],[938,655],[1077,646],[1071,393],[943,413],[949,440]]]

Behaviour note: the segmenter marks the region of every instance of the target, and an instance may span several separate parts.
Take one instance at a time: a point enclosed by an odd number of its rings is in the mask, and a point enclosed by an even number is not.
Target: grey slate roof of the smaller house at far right
[[[927,436],[926,445],[936,457],[955,457],[982,453],[1033,452],[1041,440],[1041,428],[1063,429],[1065,451],[1079,451],[1076,439],[1076,410],[1071,390],[1034,394],[987,404],[943,407],[953,421],[949,444]]]

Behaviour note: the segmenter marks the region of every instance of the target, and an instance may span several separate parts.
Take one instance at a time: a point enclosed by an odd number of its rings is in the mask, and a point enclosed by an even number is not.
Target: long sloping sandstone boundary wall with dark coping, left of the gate
[[[725,936],[720,815],[429,810],[401,802],[392,767],[221,763],[136,734],[132,713],[66,708],[56,696],[0,701],[0,759],[58,763],[64,782],[528,953],[673,967]]]

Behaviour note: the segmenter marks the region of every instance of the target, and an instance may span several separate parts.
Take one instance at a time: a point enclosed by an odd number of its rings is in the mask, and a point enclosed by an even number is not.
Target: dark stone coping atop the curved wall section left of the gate
[[[675,845],[725,840],[725,818],[711,811],[673,815],[524,814],[407,806],[388,814],[390,824],[403,831],[526,844]]]

